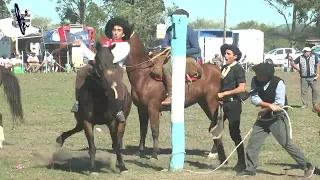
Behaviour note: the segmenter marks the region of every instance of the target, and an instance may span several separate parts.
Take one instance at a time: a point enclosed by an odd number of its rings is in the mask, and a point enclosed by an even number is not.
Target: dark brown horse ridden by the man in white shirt
[[[79,111],[75,113],[76,127],[62,133],[56,140],[62,146],[68,137],[84,129],[89,144],[91,171],[95,171],[96,154],[93,128],[95,125],[102,124],[106,124],[110,130],[112,148],[116,152],[117,166],[120,172],[127,171],[121,153],[125,122],[116,120],[118,109],[114,104],[117,103],[115,96],[124,100],[124,114],[127,119],[131,110],[131,96],[127,87],[122,83],[123,69],[120,66],[114,67],[112,63],[113,55],[110,50],[113,47],[109,49],[97,43],[96,64],[93,65],[93,69],[97,69],[97,71],[93,71],[80,88]],[[111,87],[115,83],[116,92]]]

